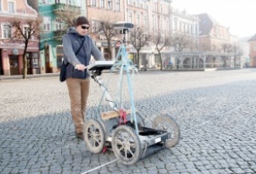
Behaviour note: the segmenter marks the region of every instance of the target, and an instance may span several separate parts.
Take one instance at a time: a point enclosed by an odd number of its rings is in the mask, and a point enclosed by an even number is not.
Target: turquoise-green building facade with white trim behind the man
[[[39,43],[41,72],[58,72],[63,57],[62,37],[67,30],[63,24],[63,18],[86,16],[86,1],[39,0],[38,11],[40,17],[43,18]]]

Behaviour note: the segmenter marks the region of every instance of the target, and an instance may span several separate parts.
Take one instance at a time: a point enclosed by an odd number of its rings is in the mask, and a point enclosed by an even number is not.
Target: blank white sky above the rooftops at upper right
[[[238,37],[256,34],[256,0],[172,0],[172,7],[191,15],[208,13]]]

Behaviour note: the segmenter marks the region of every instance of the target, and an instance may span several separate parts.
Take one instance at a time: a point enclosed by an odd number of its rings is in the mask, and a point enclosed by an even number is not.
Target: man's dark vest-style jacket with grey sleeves
[[[75,52],[80,48],[82,39],[85,39],[85,41],[79,53],[75,55]],[[105,60],[102,57],[100,50],[93,42],[93,39],[89,36],[80,36],[73,27],[67,30],[66,35],[62,38],[62,42],[64,51],[64,63],[69,63],[66,68],[66,78],[73,77],[73,73],[76,73],[74,67],[77,64],[84,64],[87,66],[90,63],[91,56],[93,56],[95,60]],[[81,70],[79,70],[78,73],[81,74],[81,78],[88,77],[86,70],[84,71],[83,75]]]

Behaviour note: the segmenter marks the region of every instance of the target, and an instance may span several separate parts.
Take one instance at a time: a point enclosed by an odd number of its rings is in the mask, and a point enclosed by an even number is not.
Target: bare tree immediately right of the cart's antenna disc
[[[140,51],[142,47],[149,45],[151,36],[142,27],[135,26],[133,30],[130,31],[130,43],[135,47],[136,58],[134,63],[140,67]]]

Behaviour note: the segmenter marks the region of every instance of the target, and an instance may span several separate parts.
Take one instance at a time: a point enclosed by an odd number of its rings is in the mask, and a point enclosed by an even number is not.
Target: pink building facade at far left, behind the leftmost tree
[[[0,0],[0,75],[20,75],[23,71],[23,39],[12,38],[10,21],[21,17],[38,17],[26,0]],[[25,23],[24,26],[26,27]],[[40,73],[38,38],[32,37],[27,50],[27,74]]]

